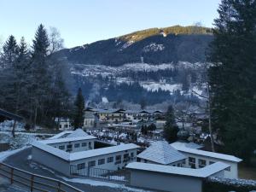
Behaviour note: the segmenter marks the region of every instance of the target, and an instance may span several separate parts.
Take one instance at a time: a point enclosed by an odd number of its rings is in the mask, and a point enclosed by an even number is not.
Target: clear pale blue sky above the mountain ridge
[[[220,0],[0,0],[0,38],[31,43],[40,23],[55,26],[67,48],[150,27],[212,26]]]

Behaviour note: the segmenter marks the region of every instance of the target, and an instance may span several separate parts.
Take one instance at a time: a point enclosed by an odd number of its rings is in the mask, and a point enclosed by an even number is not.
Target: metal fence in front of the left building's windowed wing
[[[70,173],[73,176],[94,177],[119,183],[128,183],[130,180],[130,172],[125,170],[113,171],[91,166],[82,169],[78,169],[78,166],[70,166]]]

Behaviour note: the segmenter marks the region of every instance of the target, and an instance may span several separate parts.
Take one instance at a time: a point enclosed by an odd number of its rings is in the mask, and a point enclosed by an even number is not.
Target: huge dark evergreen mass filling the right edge
[[[223,0],[218,15],[208,54],[212,124],[224,152],[249,162],[256,148],[256,1]]]

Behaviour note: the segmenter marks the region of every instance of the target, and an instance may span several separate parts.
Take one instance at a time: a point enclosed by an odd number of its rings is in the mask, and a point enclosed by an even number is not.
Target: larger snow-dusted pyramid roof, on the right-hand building
[[[137,157],[163,165],[168,165],[187,158],[184,154],[178,152],[177,149],[172,148],[172,146],[165,141],[153,143],[141,154],[138,154]]]

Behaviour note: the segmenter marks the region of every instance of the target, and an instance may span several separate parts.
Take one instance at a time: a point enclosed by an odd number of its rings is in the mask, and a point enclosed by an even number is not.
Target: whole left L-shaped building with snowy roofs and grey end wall
[[[96,142],[96,137],[80,129],[64,131],[32,143],[32,160],[67,176],[92,172],[94,168],[116,171],[137,160],[136,144],[96,148]]]

